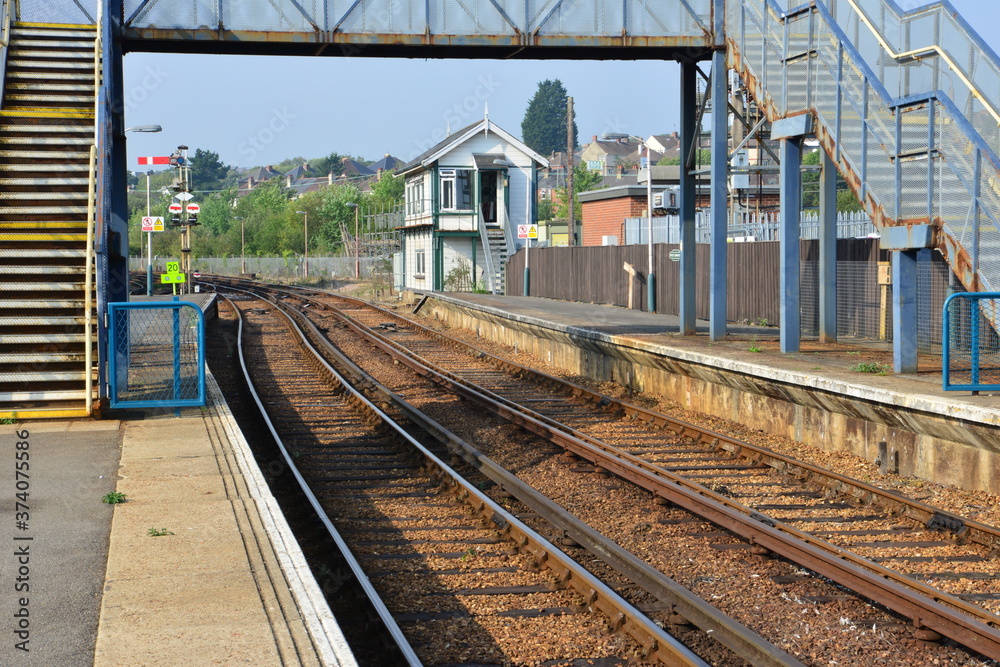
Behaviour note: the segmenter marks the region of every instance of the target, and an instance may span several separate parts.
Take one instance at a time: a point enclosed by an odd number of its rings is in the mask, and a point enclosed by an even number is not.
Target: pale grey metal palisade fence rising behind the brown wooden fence
[[[781,229],[780,212],[735,214],[727,235],[740,241],[777,241]],[[699,211],[695,215],[695,243],[709,243],[712,235],[712,219],[708,212]],[[819,213],[803,211],[799,223],[799,238],[819,238]],[[837,214],[837,238],[861,239],[875,236],[878,229],[864,211]],[[649,219],[625,218],[622,223],[622,245],[649,243]],[[680,243],[680,217],[676,215],[653,216],[653,243]]]

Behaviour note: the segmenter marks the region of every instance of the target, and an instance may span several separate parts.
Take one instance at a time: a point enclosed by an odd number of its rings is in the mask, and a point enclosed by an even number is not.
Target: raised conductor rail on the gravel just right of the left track
[[[496,464],[475,447],[429,419],[419,410],[414,409],[405,400],[365,373],[349,357],[332,345],[322,332],[318,330],[315,323],[303,313],[289,312],[300,318],[303,326],[313,333],[317,342],[323,345],[331,356],[336,357],[339,363],[349,368],[351,374],[358,381],[364,382],[368,387],[378,391],[387,401],[402,411],[408,419],[420,425],[422,429],[446,445],[453,454],[460,456],[466,463],[493,480],[500,488],[511,493],[541,517],[564,531],[575,542],[604,560],[618,572],[635,581],[661,602],[671,604],[675,613],[687,619],[699,629],[707,633],[712,633],[712,637],[715,640],[750,662],[750,664],[761,666],[792,666],[803,664],[774,646],[771,642],[760,637],[742,623],[716,609],[688,589],[665,576],[662,572],[651,567],[642,559],[601,535],[598,531],[564,510],[559,504],[523,482],[517,475]],[[365,331],[361,330],[359,333],[368,338],[365,335]]]

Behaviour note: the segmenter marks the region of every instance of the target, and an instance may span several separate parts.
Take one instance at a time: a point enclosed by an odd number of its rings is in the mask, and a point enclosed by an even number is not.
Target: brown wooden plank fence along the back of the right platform
[[[805,336],[819,333],[819,242],[801,241],[801,322]],[[878,262],[890,253],[879,249],[878,239],[837,241],[837,336],[844,339],[892,340],[892,286],[878,284]],[[729,322],[768,324],[780,321],[780,244],[777,242],[727,244],[727,314]],[[656,276],[656,312],[679,311],[680,262],[670,260],[678,245],[653,245]],[[696,316],[709,317],[710,246],[698,244]],[[645,245],[532,248],[530,296],[648,310],[646,284],[648,248]],[[507,264],[507,294],[523,294],[525,252]],[[630,281],[624,264],[633,266],[640,279]],[[918,253],[918,348],[941,353],[941,313],[945,299],[961,286],[949,285],[951,269],[930,250]],[[777,330],[775,330],[777,331]]]

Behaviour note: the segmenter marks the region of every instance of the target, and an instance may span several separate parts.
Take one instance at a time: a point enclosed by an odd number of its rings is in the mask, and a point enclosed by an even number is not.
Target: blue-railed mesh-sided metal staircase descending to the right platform
[[[954,8],[726,0],[726,46],[768,120],[813,116],[876,225],[934,226],[967,289],[1000,290],[1000,63]]]

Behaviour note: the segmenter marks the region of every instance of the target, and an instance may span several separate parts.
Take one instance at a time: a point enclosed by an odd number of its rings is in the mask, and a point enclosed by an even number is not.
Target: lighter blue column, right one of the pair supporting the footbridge
[[[726,51],[712,53],[712,231],[711,276],[709,277],[710,340],[726,337],[727,228],[729,226],[729,96],[726,75]]]

